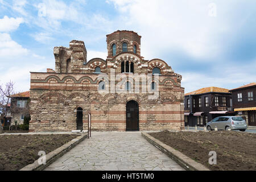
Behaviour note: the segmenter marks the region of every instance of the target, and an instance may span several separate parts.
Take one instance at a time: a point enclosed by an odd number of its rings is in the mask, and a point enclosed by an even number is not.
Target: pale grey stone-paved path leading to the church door
[[[141,132],[92,132],[46,170],[184,170],[166,154],[152,146]]]

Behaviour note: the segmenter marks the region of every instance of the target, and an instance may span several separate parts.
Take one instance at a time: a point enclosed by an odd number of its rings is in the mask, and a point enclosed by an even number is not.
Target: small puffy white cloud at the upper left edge
[[[23,22],[23,18],[9,18],[8,16],[4,16],[0,19],[0,32],[14,31],[19,27],[19,24]]]

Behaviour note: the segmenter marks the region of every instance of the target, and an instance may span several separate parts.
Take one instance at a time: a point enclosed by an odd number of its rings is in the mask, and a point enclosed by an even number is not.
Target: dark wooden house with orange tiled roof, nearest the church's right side
[[[185,94],[185,126],[205,126],[213,118],[232,114],[232,96],[228,89],[210,86]]]

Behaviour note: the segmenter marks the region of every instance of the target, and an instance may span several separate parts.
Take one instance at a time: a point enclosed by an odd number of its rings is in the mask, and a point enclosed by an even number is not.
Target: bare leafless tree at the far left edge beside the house
[[[9,81],[3,86],[0,84],[0,113],[1,119],[5,118],[7,113],[11,112],[11,96],[15,94],[14,92],[14,82]],[[2,125],[1,125],[2,128]]]

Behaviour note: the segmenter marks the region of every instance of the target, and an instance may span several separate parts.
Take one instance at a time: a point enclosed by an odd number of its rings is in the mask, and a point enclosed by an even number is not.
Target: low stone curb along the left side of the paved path
[[[65,143],[63,146],[57,148],[56,150],[49,152],[46,155],[46,164],[39,164],[38,160],[35,160],[34,163],[28,164],[27,166],[23,167],[19,171],[43,171],[46,167],[48,167],[51,163],[55,162],[58,158],[63,156],[73,147],[77,146],[82,140],[88,137],[88,133],[82,134],[79,137],[72,139],[70,142]]]

